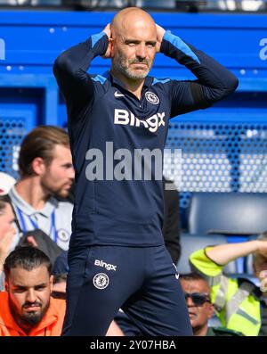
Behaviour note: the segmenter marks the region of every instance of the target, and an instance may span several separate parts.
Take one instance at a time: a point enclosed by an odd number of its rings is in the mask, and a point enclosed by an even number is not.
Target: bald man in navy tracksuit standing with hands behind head
[[[159,52],[198,80],[148,76]],[[110,58],[109,72],[87,73],[96,56]],[[104,335],[119,308],[143,334],[191,335],[161,231],[162,153],[169,119],[230,95],[237,78],[138,8],[118,12],[53,70],[77,181],[63,335]]]

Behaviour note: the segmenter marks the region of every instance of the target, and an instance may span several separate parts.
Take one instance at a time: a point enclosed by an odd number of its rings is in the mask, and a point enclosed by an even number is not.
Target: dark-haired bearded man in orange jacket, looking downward
[[[51,298],[52,265],[44,252],[19,247],[4,262],[0,292],[0,336],[58,336],[65,300]]]

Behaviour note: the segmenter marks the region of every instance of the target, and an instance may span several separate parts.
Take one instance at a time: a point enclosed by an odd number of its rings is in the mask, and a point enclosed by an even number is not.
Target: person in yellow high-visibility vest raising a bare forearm
[[[211,300],[223,326],[249,336],[266,336],[267,289],[262,292],[247,279],[223,275],[226,264],[251,253],[255,277],[262,279],[267,269],[267,233],[255,241],[195,251],[190,255],[190,263],[211,285]]]

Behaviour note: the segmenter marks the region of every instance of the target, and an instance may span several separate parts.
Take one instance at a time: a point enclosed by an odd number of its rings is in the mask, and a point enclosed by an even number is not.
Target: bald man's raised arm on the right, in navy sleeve
[[[235,91],[239,80],[229,70],[180,37],[162,32],[158,26],[159,29],[163,34],[160,52],[186,66],[198,78],[195,81],[173,81],[172,117],[209,107]]]

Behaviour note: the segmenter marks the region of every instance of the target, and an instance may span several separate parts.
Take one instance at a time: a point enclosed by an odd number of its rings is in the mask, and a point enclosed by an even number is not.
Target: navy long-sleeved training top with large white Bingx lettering
[[[153,168],[152,180],[146,180],[143,172],[134,176],[134,153],[136,161],[142,161],[142,168],[149,168],[142,152],[164,150],[169,119],[222,100],[237,88],[238,79],[208,55],[166,32],[161,53],[185,65],[198,79],[147,77],[139,100],[109,72],[87,73],[93,58],[105,54],[107,47],[108,37],[101,32],[62,53],[53,67],[67,104],[76,170],[70,244],[160,245],[162,181],[156,180]],[[98,169],[101,163],[104,171]],[[114,179],[110,171],[115,169],[121,171],[121,178]],[[97,178],[92,180],[90,176],[96,171]]]

